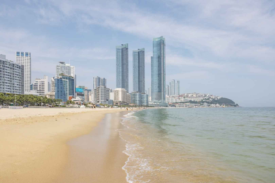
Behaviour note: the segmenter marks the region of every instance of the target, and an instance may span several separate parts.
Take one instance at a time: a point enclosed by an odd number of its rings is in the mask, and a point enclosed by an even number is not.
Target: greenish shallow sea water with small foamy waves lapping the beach
[[[120,129],[128,182],[275,182],[275,108],[132,112]]]

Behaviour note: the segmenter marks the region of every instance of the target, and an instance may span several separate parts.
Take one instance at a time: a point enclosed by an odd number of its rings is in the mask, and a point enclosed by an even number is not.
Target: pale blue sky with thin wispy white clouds
[[[166,84],[181,93],[209,93],[243,107],[275,106],[274,0],[70,1],[2,0],[0,54],[30,52],[32,82],[55,76],[60,61],[75,66],[77,85],[94,76],[116,87],[116,46],[145,48],[151,86],[152,39],[166,41]]]

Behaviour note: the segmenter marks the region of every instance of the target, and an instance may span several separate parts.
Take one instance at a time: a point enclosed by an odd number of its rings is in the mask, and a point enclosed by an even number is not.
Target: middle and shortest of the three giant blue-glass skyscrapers
[[[133,50],[133,91],[145,93],[145,51]]]

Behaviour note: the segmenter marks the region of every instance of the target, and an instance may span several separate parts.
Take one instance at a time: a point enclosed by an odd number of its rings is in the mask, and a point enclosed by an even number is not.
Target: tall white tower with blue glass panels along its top
[[[30,52],[16,52],[16,63],[24,65],[24,88],[30,90],[31,84],[31,56]]]

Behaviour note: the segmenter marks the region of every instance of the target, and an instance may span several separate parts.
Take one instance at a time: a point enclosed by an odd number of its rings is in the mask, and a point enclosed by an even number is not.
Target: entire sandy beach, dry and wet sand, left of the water
[[[128,157],[116,131],[124,113],[1,109],[0,182],[126,182]]]

